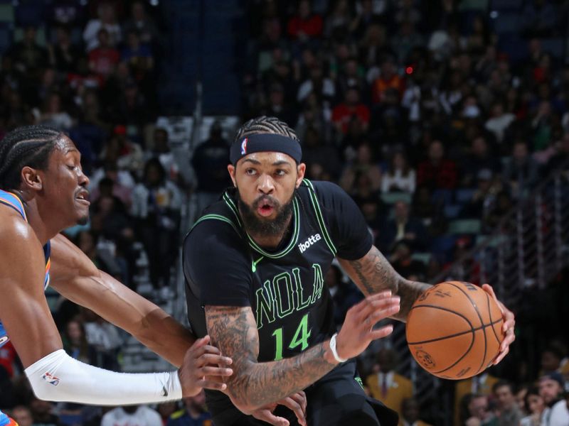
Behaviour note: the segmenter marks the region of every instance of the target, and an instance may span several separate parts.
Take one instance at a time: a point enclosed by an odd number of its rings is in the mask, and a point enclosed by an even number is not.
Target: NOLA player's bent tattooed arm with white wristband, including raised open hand
[[[373,325],[398,309],[399,299],[391,297],[390,292],[366,297],[351,307],[337,337],[339,356],[357,356],[372,340],[390,334],[391,326],[373,329]],[[227,391],[244,413],[301,391],[339,364],[329,340],[292,358],[257,362],[260,342],[251,307],[206,305],[206,323],[213,344],[233,359],[233,376],[226,381]]]

